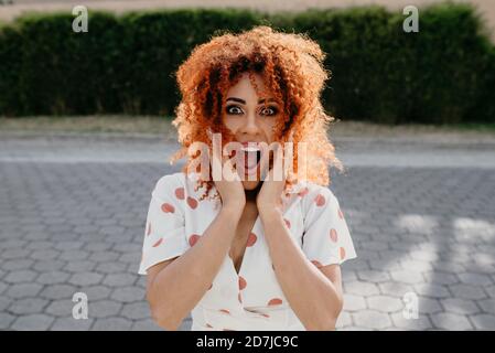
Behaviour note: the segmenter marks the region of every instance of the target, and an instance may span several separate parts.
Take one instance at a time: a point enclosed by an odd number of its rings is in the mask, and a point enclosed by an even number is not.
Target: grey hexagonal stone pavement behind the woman
[[[160,330],[137,270],[173,146],[84,141],[0,138],[0,330]],[[494,146],[336,145],[349,167],[331,189],[358,253],[338,328],[495,330]],[[87,320],[72,318],[79,291]]]

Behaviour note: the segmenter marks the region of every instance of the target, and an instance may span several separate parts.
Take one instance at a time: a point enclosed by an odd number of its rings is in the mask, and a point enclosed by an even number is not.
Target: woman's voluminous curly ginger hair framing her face
[[[294,170],[298,170],[298,143],[306,142],[306,181],[329,185],[329,165],[341,171],[343,167],[326,135],[327,125],[334,118],[325,114],[320,101],[330,76],[323,67],[324,57],[320,45],[306,35],[277,32],[266,25],[240,34],[214,36],[196,46],[176,72],[182,100],[172,124],[177,128],[182,149],[171,162],[187,157],[187,149],[196,141],[211,146],[209,132],[220,132],[227,138],[225,142],[233,139],[223,124],[227,90],[240,74],[248,73],[251,77],[256,73],[283,107],[276,122],[275,138],[279,142],[293,142]],[[259,92],[254,79],[251,83],[259,97],[266,94]],[[191,161],[189,156],[184,172]],[[288,184],[297,181],[293,175],[288,178]],[[206,186],[203,197],[206,196],[213,186],[212,178],[200,180],[200,186]]]

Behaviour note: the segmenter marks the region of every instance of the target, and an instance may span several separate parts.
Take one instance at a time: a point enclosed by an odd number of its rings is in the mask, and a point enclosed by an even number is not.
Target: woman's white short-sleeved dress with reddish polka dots
[[[157,182],[146,223],[140,275],[187,252],[218,214],[218,200],[200,201],[204,189],[194,191],[196,180],[195,174],[175,173]],[[283,201],[291,236],[312,264],[322,267],[356,257],[344,214],[331,190],[301,182]],[[239,272],[227,254],[212,286],[193,309],[192,319],[193,331],[305,330],[277,280],[259,216]]]

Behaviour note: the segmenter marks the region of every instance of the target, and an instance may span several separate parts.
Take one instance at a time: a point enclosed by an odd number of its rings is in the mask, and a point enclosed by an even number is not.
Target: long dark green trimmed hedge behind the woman
[[[419,33],[379,7],[90,12],[88,33],[74,33],[73,19],[29,14],[0,29],[0,115],[172,115],[174,72],[196,44],[270,24],[308,33],[327,53],[322,98],[338,118],[495,122],[495,49],[466,4],[420,9]]]

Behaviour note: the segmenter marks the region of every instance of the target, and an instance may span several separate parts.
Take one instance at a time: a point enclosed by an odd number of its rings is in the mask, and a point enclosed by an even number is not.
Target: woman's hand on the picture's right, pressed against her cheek
[[[256,197],[259,213],[282,211],[282,193],[286,185],[286,168],[283,164],[283,149],[279,148],[275,153],[273,167],[268,171]]]

